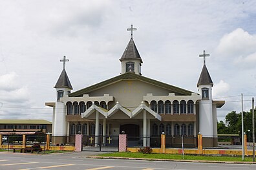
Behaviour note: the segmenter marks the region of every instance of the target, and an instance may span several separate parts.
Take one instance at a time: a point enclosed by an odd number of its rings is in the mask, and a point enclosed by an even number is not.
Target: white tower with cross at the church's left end
[[[69,95],[70,90],[72,90],[72,85],[69,81],[69,77],[67,75],[67,72],[65,70],[65,62],[69,61],[69,59],[66,59],[64,56],[63,59],[60,61],[63,62],[63,70],[61,72],[61,75],[59,76],[59,79],[54,86],[56,88],[56,107],[55,112],[52,117],[52,143],[67,143],[67,122],[66,122],[66,107],[65,103],[60,101],[60,98],[62,98],[64,95]]]

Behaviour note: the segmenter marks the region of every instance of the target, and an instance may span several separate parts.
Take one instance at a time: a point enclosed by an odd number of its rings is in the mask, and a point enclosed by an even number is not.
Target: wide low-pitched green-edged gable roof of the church
[[[120,76],[116,76],[109,80],[101,81],[100,83],[97,83],[95,85],[91,85],[84,89],[77,90],[76,92],[72,92],[69,94],[69,97],[83,96],[83,94],[88,94],[89,92],[92,92],[97,89],[101,89],[102,87],[106,87],[107,85],[111,85],[112,83],[116,83],[116,82],[122,81],[122,80],[140,80],[140,81],[144,81],[145,83],[149,83],[149,84],[158,86],[160,88],[171,90],[173,92],[177,92],[177,93],[183,94],[183,95],[191,95],[191,93],[193,93],[189,90],[181,89],[181,88],[175,87],[173,85],[162,83],[161,81],[157,81],[157,80],[153,80],[151,78],[146,78],[144,76],[140,76],[138,74],[135,74],[134,72],[125,72],[124,74],[121,74]]]

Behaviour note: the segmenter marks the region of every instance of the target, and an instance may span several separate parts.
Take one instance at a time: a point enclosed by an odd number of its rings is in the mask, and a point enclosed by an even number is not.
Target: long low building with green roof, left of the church
[[[10,131],[52,133],[52,122],[47,120],[0,120],[0,132]]]

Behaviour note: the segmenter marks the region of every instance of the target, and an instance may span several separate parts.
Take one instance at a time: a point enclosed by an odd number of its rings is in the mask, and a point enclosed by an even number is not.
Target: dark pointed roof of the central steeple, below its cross
[[[142,62],[142,58],[140,58],[140,54],[138,53],[138,50],[136,48],[136,45],[133,41],[133,38],[131,37],[127,47],[125,48],[125,51],[123,52],[122,58],[120,58],[120,61],[125,59],[138,59]]]

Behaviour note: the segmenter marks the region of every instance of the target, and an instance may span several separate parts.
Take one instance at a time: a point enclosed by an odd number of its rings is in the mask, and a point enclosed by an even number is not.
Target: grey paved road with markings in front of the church
[[[65,153],[65,154],[23,154],[0,153],[0,169],[5,170],[68,170],[68,169],[256,169],[256,165],[244,164],[207,164],[193,162],[164,162],[145,160],[105,160],[85,158],[85,156],[98,154],[91,152]]]

